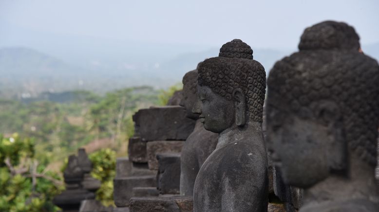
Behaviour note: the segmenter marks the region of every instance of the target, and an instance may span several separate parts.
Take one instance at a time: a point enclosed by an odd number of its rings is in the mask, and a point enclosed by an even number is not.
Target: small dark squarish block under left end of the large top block
[[[146,141],[142,141],[140,137],[132,137],[128,144],[129,159],[137,163],[148,162],[146,152]]]

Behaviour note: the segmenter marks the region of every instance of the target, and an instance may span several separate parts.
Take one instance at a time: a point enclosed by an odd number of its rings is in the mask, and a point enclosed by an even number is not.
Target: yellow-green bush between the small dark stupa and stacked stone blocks
[[[93,164],[92,177],[101,181],[101,187],[96,192],[96,199],[105,206],[113,204],[113,179],[116,169],[116,152],[106,148],[89,155]]]

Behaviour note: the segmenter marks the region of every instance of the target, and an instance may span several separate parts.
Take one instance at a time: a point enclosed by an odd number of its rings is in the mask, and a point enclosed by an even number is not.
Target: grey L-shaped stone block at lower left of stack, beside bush
[[[133,176],[114,178],[114,204],[117,207],[129,205],[134,187],[156,187],[156,176]]]

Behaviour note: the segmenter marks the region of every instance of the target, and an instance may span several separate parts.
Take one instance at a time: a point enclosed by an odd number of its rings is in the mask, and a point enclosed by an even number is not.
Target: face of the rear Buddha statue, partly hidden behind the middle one
[[[197,70],[187,72],[183,77],[183,98],[179,105],[186,110],[187,117],[197,120],[198,114],[193,113],[193,107],[197,100]]]

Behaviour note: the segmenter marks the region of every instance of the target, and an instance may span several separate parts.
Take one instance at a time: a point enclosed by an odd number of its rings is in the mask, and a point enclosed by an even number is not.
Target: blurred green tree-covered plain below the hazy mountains
[[[41,97],[43,101],[27,104],[0,99],[0,133],[22,132],[34,138],[36,159],[60,165],[92,141],[106,138],[111,141],[108,146],[121,149],[133,136],[134,112],[158,103],[158,91],[151,87],[125,88],[104,96],[82,90],[49,95],[50,101]]]

